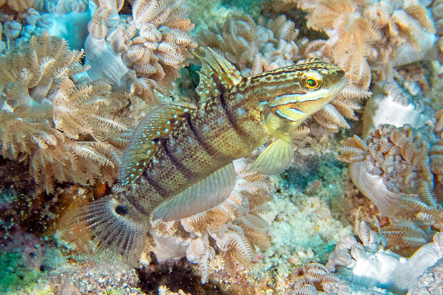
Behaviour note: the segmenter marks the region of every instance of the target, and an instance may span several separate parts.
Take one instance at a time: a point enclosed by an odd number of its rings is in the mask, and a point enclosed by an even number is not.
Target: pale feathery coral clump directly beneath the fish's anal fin
[[[154,222],[150,234],[152,249],[157,259],[186,258],[198,263],[201,281],[206,283],[210,261],[216,251],[224,258],[231,271],[248,265],[253,260],[253,245],[269,245],[269,225],[258,215],[266,210],[270,200],[265,177],[249,171],[251,162],[234,161],[237,180],[230,197],[204,213],[173,222]],[[217,245],[217,247],[215,247]]]

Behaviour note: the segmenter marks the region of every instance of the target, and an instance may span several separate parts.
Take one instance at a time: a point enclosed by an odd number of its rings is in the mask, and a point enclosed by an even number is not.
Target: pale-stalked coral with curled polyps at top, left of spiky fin
[[[91,77],[146,100],[154,97],[154,89],[165,93],[197,46],[188,35],[193,25],[183,17],[183,1],[137,0],[127,19],[118,15],[123,1],[97,2],[85,43]]]

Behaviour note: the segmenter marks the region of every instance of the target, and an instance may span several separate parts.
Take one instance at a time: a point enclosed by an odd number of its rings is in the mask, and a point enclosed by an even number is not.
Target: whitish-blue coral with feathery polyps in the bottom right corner
[[[433,288],[437,291],[443,258],[441,233],[405,259],[383,249],[383,238],[365,222],[359,223],[357,231],[361,242],[354,236],[344,236],[329,255],[326,266],[312,263],[304,267],[294,294],[319,294],[317,286],[334,294],[406,294],[408,290],[408,294],[416,294],[419,289],[422,294],[434,294]],[[424,282],[425,278],[429,280]]]

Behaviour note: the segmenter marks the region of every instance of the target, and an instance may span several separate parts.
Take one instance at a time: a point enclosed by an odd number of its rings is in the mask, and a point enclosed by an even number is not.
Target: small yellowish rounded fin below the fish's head
[[[292,142],[275,140],[263,151],[251,166],[251,170],[262,174],[278,174],[293,161]]]

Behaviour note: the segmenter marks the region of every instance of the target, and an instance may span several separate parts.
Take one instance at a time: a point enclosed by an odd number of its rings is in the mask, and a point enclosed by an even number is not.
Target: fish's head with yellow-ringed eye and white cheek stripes
[[[338,66],[320,59],[308,59],[304,64],[274,70],[273,80],[280,79],[278,91],[269,97],[266,105],[273,115],[300,124],[327,103],[345,87],[345,72]]]

